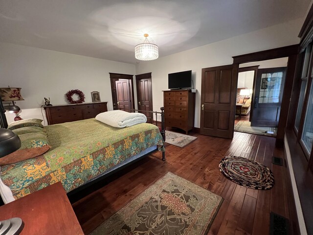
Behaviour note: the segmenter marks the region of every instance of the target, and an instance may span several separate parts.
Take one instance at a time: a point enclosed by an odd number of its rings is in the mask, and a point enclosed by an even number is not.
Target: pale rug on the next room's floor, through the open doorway
[[[238,121],[234,127],[234,131],[272,137],[275,137],[277,134],[276,127],[251,126],[251,122],[249,121]]]

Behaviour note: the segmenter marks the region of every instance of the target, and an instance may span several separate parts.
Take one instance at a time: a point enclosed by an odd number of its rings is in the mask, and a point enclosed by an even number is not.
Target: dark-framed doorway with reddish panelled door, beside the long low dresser
[[[134,109],[133,75],[110,72],[113,110],[122,109],[130,112]]]

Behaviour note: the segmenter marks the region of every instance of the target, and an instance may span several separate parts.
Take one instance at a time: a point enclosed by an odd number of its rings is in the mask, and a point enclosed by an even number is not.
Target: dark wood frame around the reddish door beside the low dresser
[[[130,84],[130,89],[129,92],[131,93],[129,97],[131,97],[131,107],[130,109],[134,109],[135,103],[134,103],[134,82],[133,82],[133,76],[132,74],[122,74],[122,73],[113,73],[109,72],[110,74],[110,82],[111,82],[111,94],[112,94],[112,105],[113,105],[113,110],[115,105],[117,104],[117,95],[116,95],[116,86],[115,86],[115,81],[118,81],[119,79],[127,79],[129,80]]]

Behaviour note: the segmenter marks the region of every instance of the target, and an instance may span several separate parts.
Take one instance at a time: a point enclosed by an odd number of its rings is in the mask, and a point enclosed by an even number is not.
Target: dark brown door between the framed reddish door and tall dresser
[[[136,75],[138,109],[153,111],[151,72]],[[141,112],[147,116],[147,122],[153,123],[152,113]]]

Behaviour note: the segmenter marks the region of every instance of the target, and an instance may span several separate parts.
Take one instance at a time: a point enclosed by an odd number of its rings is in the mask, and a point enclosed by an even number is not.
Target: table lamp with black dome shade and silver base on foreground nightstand
[[[11,130],[0,128],[0,158],[13,153],[21,147],[21,140]],[[24,223],[21,218],[11,218],[0,221],[0,235],[18,235],[22,232]]]

